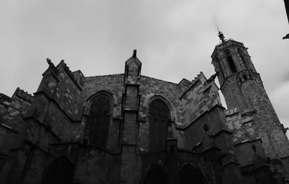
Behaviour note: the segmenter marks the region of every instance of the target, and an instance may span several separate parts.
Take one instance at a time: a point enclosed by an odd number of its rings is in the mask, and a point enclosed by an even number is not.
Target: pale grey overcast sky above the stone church
[[[124,73],[133,49],[144,76],[178,83],[203,71],[209,78],[218,25],[226,38],[249,47],[281,123],[289,126],[283,0],[2,0],[0,23],[0,92],[8,96],[17,87],[36,92],[47,57],[100,76]]]

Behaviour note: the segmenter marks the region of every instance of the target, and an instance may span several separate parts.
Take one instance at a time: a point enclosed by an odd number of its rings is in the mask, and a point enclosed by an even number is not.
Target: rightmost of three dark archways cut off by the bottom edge
[[[180,171],[180,184],[207,184],[203,173],[188,164]]]

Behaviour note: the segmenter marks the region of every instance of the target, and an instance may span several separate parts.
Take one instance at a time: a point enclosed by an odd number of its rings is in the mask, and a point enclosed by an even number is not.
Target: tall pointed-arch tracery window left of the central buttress
[[[105,95],[99,95],[90,107],[90,143],[106,148],[112,103]]]

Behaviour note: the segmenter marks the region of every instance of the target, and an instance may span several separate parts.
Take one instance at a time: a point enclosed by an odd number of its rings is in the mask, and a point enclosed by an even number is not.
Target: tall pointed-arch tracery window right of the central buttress
[[[165,148],[170,121],[170,109],[161,100],[156,99],[149,105],[149,144],[150,151],[160,151]]]

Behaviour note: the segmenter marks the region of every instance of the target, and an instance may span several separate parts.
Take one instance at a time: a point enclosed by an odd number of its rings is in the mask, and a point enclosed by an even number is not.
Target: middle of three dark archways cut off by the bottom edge
[[[145,175],[143,184],[168,184],[168,179],[160,167],[152,165]]]

